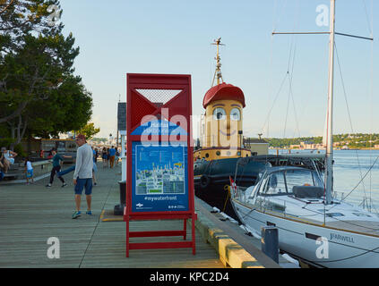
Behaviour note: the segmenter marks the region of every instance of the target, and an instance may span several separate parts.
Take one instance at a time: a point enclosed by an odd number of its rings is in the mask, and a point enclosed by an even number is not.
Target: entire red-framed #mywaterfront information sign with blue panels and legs
[[[126,257],[129,249],[193,248],[194,159],[191,76],[127,74]],[[181,231],[129,231],[132,220],[183,219]],[[130,243],[130,237],[183,236],[192,240]]]

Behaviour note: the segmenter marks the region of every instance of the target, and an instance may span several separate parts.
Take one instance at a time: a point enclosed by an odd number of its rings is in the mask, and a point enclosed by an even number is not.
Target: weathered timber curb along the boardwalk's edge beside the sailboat
[[[226,267],[231,268],[264,268],[264,266],[252,257],[228,234],[215,227],[210,220],[197,211],[197,220],[194,223],[196,229],[202,234],[202,238],[211,244],[219,253],[220,261]]]

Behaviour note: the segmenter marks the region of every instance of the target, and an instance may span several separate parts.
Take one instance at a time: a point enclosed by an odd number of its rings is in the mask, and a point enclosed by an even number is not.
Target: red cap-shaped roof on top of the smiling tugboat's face
[[[207,91],[202,100],[202,106],[206,108],[212,101],[222,99],[237,100],[245,107],[245,96],[241,88],[237,88],[225,82]]]

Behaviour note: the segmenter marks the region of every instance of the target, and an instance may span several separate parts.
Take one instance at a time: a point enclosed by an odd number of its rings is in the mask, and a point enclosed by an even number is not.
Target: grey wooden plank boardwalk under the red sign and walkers
[[[100,214],[111,213],[119,203],[121,164],[103,168],[98,163],[99,186],[93,188],[93,215],[71,218],[74,210],[73,172],[65,175],[61,188],[48,178],[33,185],[0,185],[0,267],[140,267],[220,268],[219,254],[196,231],[196,255],[192,248],[130,250],[125,257],[125,223],[103,222]],[[121,217],[120,217],[121,218]],[[131,230],[180,230],[182,221],[132,222]],[[187,237],[190,237],[190,229]],[[49,238],[59,240],[60,258],[47,257]],[[131,241],[177,241],[180,238],[135,238]]]

